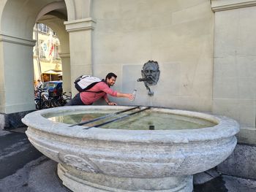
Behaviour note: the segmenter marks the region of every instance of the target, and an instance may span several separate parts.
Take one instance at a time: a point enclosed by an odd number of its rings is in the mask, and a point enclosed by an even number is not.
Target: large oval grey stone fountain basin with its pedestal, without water
[[[217,126],[186,130],[83,129],[53,122],[53,117],[89,110],[128,107],[57,107],[23,118],[29,141],[58,162],[58,174],[72,191],[183,191],[191,192],[192,174],[211,169],[236,147],[238,123],[199,112],[154,108],[203,118]],[[45,118],[46,117],[46,118]]]

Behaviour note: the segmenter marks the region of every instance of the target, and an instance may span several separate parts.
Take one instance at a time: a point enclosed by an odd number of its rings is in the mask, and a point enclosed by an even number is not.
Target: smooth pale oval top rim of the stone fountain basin
[[[59,114],[70,110],[78,112],[83,110],[125,110],[134,106],[68,106],[56,107],[47,110],[38,110],[26,115],[22,122],[35,128],[38,131],[50,132],[64,137],[75,137],[78,139],[105,140],[116,142],[156,142],[156,143],[187,143],[187,142],[205,142],[206,140],[225,139],[233,137],[239,131],[239,125],[236,120],[225,116],[213,115],[204,112],[193,112],[189,110],[173,110],[163,107],[152,107],[153,111],[170,112],[170,114],[187,115],[195,118],[203,118],[206,120],[218,123],[216,126],[197,128],[197,129],[182,129],[182,130],[127,130],[113,128],[90,128],[83,129],[84,126],[73,126],[69,124],[54,122],[48,120],[42,115]]]

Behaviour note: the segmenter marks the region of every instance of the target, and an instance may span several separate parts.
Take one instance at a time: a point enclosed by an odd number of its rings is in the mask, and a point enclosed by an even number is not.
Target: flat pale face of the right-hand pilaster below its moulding
[[[255,127],[256,7],[215,12],[213,111]]]

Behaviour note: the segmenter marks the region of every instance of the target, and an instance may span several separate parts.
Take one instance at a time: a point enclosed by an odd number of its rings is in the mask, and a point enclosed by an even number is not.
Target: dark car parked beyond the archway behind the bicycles
[[[59,97],[62,94],[62,81],[48,81],[42,83],[42,90],[50,97]]]

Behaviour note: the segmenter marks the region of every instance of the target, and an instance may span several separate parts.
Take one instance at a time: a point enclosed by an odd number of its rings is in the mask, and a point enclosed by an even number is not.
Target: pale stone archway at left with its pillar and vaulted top
[[[45,23],[58,33],[68,77],[69,36],[63,24],[67,8],[64,1],[54,0],[6,0],[1,1],[0,7],[0,112],[34,110],[34,23]]]

